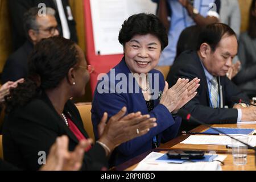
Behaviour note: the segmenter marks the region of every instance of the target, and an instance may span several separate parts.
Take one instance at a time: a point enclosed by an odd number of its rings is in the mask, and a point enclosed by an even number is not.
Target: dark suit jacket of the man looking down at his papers
[[[200,86],[197,89],[198,94],[184,106],[184,109],[188,110],[193,117],[208,124],[237,122],[237,109],[213,109],[210,107],[207,78],[196,51],[185,51],[177,57],[177,60],[174,61],[174,64],[168,73],[168,84],[170,86],[174,85],[179,77],[188,78],[189,80],[192,80],[195,77],[201,79]],[[245,96],[245,94],[243,94],[241,90],[228,79],[228,77],[220,77],[220,82],[218,84],[222,85],[223,106],[228,105],[229,107],[232,107],[234,105],[234,97],[248,100],[247,96]],[[196,126],[195,123],[183,121],[181,130],[190,130]]]

